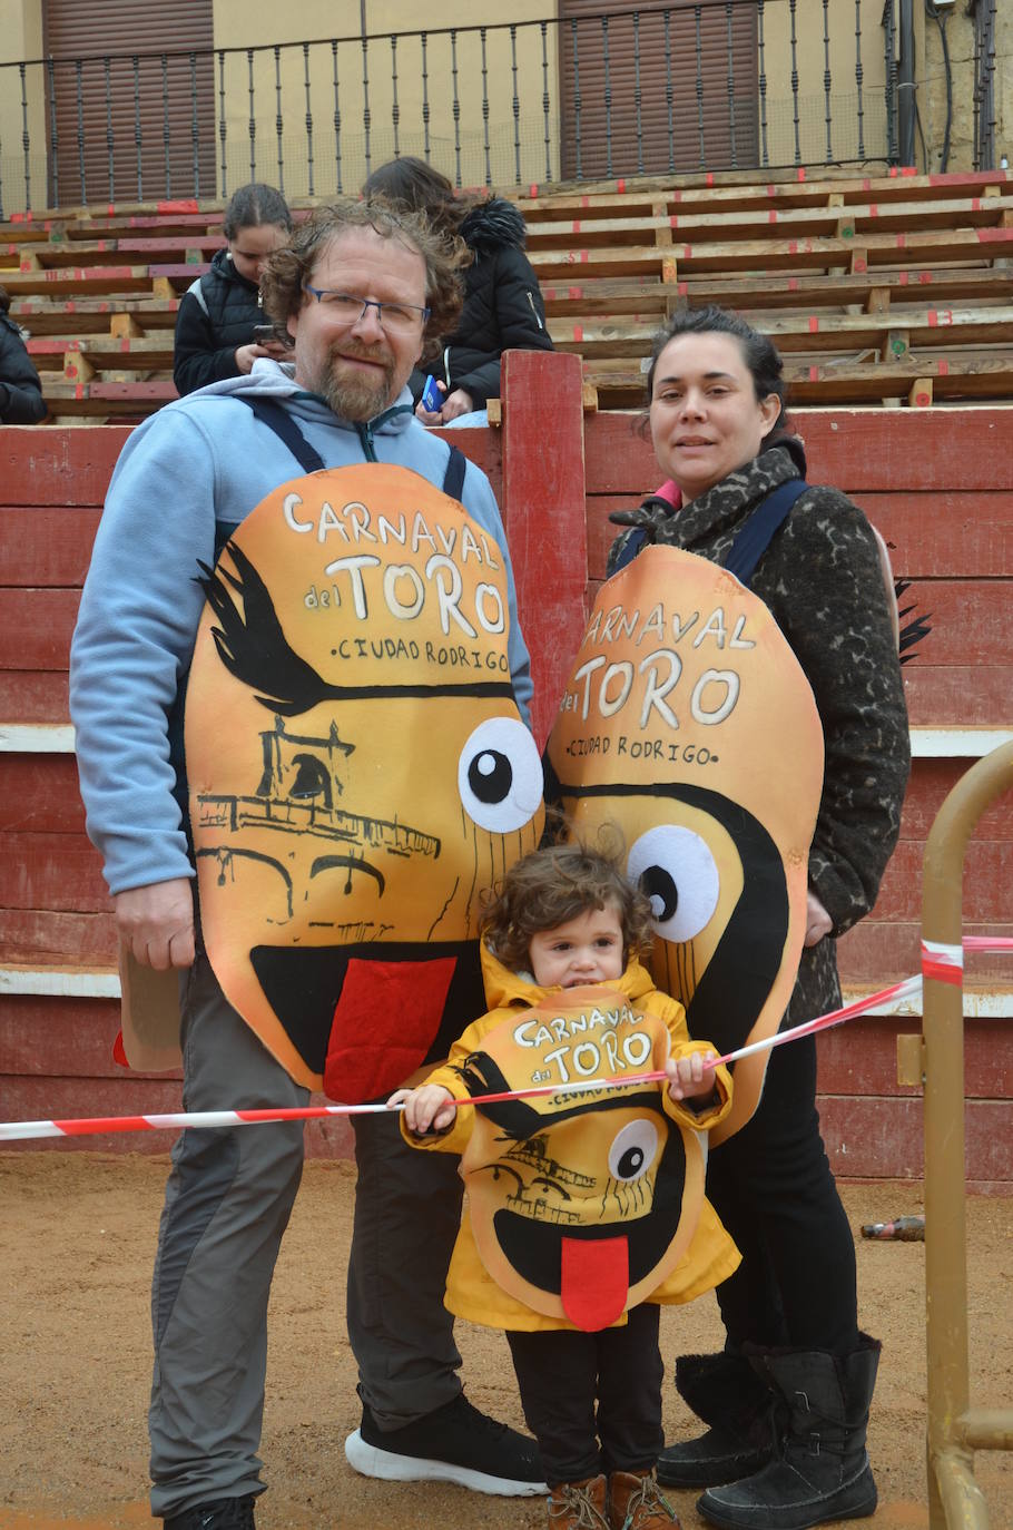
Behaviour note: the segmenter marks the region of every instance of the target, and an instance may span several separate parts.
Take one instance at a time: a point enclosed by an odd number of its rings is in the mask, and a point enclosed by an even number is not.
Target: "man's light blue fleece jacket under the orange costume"
[[[438,487],[447,468],[448,448],[415,419],[407,389],[383,415],[355,425],[301,392],[291,367],[268,360],[249,376],[170,404],[133,431],[109,485],[70,647],[87,832],[113,894],[193,875],[173,796],[167,716],[204,609],[197,563],[214,562],[216,520],[243,520],[278,483],[303,473],[237,395],[280,402],[326,467],[387,462]],[[503,552],[510,670],[526,721],[533,687],[506,537],[488,479],[471,462],[461,499]]]

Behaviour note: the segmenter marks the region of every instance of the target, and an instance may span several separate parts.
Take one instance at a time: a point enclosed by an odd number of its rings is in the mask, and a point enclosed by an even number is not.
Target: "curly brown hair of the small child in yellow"
[[[620,916],[626,961],[655,939],[647,897],[627,878],[618,852],[586,845],[546,845],[510,868],[482,915],[482,939],[511,972],[528,965],[531,936],[559,929],[591,909]]]

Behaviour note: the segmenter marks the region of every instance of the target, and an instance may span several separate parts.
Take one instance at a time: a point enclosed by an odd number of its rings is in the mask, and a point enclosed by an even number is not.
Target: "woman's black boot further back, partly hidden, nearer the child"
[[[696,1440],[666,1446],[658,1457],[658,1481],[666,1487],[735,1483],[774,1460],[774,1394],[741,1354],[681,1354],[675,1389],[712,1427]]]

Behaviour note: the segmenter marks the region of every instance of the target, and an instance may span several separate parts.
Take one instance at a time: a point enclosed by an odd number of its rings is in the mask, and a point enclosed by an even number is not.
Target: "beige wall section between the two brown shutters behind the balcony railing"
[[[376,168],[395,153],[428,158],[451,181],[465,187],[485,185],[487,181],[497,187],[514,185],[519,158],[523,185],[545,181],[546,168],[549,179],[557,177],[555,28],[549,26],[542,34],[537,21],[545,12],[546,0],[473,0],[464,15],[459,5],[447,0],[430,0],[424,8],[418,0],[364,0],[361,6],[360,0],[341,0],[340,6],[332,0],[300,0],[289,11],[280,11],[275,0],[216,0],[216,47],[245,50],[272,44],[252,57],[252,66],[245,52],[228,58],[226,188],[231,191],[251,179],[251,67],[256,176],[275,184],[283,181],[291,197],[308,196],[311,191],[314,196],[329,196],[338,190],[338,182],[344,193],[355,193],[367,168]],[[366,52],[361,41],[363,14],[369,38]],[[340,17],[343,31],[332,46],[335,15]],[[503,20],[516,23],[513,40]],[[427,32],[425,52],[418,35],[422,24]],[[450,29],[454,26],[467,31],[451,38]],[[482,40],[474,31],[482,26],[488,28],[485,70]],[[398,38],[395,50],[390,44],[392,34],[409,34]],[[301,44],[309,38],[321,41],[308,50],[301,46],[283,47],[275,58],[274,44],[286,40]],[[517,80],[522,81],[517,119],[513,109],[514,57]],[[216,67],[216,89],[217,73]],[[335,73],[340,130],[335,129]],[[297,101],[295,112],[286,110],[280,171],[275,124],[278,78],[286,99]],[[543,112],[546,80],[548,127]],[[482,113],[484,93],[488,96],[488,122]],[[311,139],[305,129],[308,101],[312,116],[312,173]],[[220,179],[220,148],[217,158]]]

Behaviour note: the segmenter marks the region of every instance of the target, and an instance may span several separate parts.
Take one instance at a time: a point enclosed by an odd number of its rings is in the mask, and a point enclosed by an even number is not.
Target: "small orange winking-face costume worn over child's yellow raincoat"
[[[664,1021],[606,984],[514,1011],[464,1069],[471,1094],[663,1069]],[[660,1085],[476,1106],[461,1160],[482,1264],[510,1296],[598,1330],[644,1300],[689,1248],[704,1152]]]

